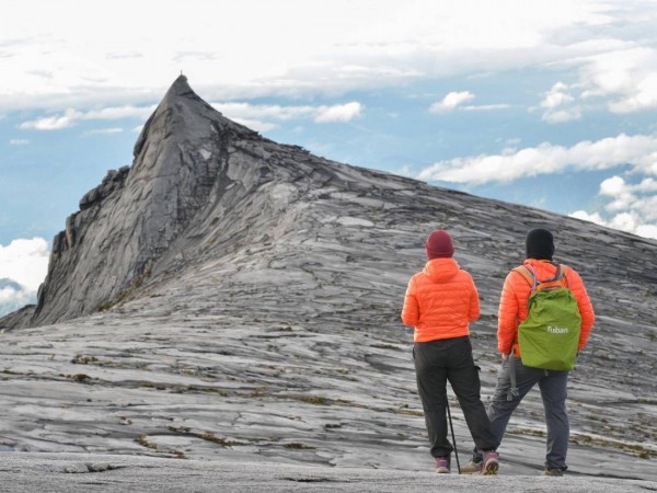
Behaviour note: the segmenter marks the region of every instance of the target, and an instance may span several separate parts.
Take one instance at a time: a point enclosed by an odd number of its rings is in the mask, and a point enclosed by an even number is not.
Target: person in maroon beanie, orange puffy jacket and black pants
[[[477,367],[472,357],[469,323],[480,316],[476,287],[452,259],[447,231],[434,231],[426,241],[427,263],[408,282],[402,321],[415,328],[413,359],[436,472],[450,472],[453,450],[447,438],[447,381],[459,399],[465,422],[481,451],[484,473],[495,474],[499,440],[481,401]]]

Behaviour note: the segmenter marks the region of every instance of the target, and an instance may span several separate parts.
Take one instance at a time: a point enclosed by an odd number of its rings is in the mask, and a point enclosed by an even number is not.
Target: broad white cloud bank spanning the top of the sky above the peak
[[[153,101],[181,70],[204,94],[244,99],[568,67],[581,71],[584,90],[613,95],[615,111],[654,100],[655,13],[641,2],[288,0],[281,9],[266,0],[243,0],[227,9],[205,0],[184,7],[163,0],[148,35],[141,20],[152,14],[149,2],[14,3],[4,12],[0,33],[9,54],[0,108]],[[104,22],[94,22],[99,18]],[[221,19],[222,28],[198,19]],[[267,43],[244,38],[245,26]],[[562,110],[552,121],[565,117]]]

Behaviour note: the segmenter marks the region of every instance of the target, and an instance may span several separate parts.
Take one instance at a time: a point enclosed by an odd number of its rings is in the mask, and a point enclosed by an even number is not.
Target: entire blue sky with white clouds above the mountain
[[[657,0],[4,2],[0,314],[184,73],[335,161],[657,239]]]

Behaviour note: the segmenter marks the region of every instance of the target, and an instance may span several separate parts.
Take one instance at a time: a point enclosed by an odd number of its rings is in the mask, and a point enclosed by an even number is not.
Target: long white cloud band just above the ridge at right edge
[[[509,182],[522,176],[570,170],[604,170],[630,164],[634,171],[657,175],[657,136],[624,134],[573,147],[544,142],[494,156],[473,156],[439,161],[420,171],[420,180],[482,184]]]

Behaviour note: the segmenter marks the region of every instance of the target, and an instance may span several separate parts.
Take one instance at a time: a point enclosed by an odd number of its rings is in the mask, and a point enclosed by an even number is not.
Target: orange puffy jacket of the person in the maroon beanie
[[[415,342],[470,335],[480,316],[479,293],[453,259],[434,259],[408,282],[402,322],[415,328]]]

